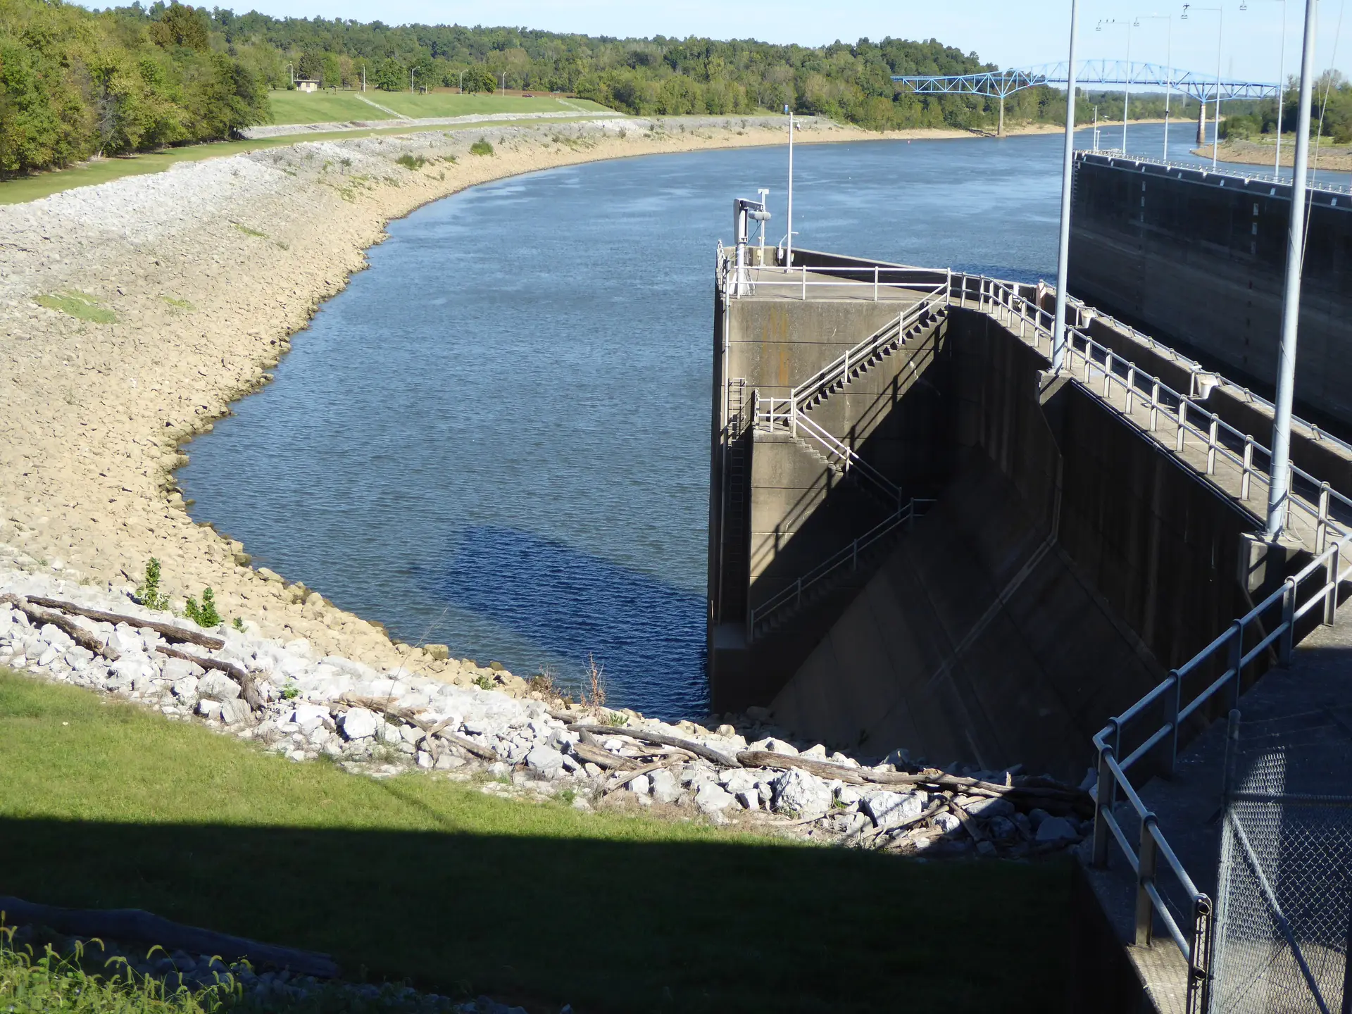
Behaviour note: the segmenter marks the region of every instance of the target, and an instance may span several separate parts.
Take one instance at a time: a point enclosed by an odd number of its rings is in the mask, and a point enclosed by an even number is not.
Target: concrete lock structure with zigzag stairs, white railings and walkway
[[[1073,296],[1060,372],[1045,284],[742,242],[714,297],[713,710],[1080,781],[1075,1009],[1207,1010],[1220,786],[1188,772],[1298,699],[1248,694],[1268,671],[1352,707],[1301,646],[1352,650],[1352,446],[1295,420],[1264,541],[1271,404]]]

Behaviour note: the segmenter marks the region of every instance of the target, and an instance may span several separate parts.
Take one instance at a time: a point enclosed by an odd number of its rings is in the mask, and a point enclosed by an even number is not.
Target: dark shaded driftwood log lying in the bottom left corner
[[[0,914],[7,926],[47,926],[73,937],[107,937],[120,944],[138,942],[149,946],[158,944],[166,952],[214,955],[224,961],[247,960],[254,967],[289,968],[293,973],[320,979],[337,979],[339,975],[338,963],[329,955],[184,926],[139,909],[58,909],[0,896]]]

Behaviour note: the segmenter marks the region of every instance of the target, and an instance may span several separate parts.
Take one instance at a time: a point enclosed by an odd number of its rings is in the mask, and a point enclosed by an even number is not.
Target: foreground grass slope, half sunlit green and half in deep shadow
[[[0,894],[579,1011],[1018,1011],[1063,863],[914,863],[295,764],[0,671]]]

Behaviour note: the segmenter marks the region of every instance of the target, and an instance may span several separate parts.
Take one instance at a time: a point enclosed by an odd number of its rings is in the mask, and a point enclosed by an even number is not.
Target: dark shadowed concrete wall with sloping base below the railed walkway
[[[1241,608],[1251,519],[984,315],[955,311],[955,476],[771,707],[803,735],[1083,775]],[[1045,404],[1041,402],[1045,399]]]

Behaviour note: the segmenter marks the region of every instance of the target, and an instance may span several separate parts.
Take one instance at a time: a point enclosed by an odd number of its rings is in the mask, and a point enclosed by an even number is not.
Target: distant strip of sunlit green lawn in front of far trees
[[[362,101],[358,92],[269,92],[273,122],[284,123],[337,123],[342,120],[392,119],[370,103],[384,105],[396,114],[412,119],[427,116],[468,116],[470,114],[502,112],[577,112],[579,110],[604,111],[587,99],[554,99],[548,95],[523,99],[518,95],[457,95],[456,92],[379,92],[368,89]]]

